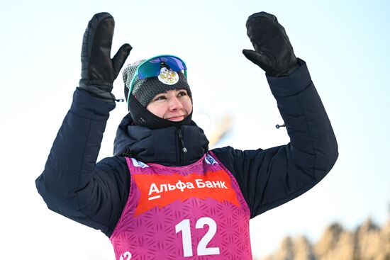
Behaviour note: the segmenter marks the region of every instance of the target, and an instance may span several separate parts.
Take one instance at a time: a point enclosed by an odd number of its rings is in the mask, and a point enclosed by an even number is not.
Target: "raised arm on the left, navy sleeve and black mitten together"
[[[125,182],[126,164],[118,157],[96,164],[109,112],[115,108],[111,94],[131,47],[123,45],[111,59],[114,21],[97,13],[87,26],[82,44],[82,78],[72,106],[52,145],[43,173],[36,179],[48,208],[105,233],[117,220],[113,210],[126,198],[116,189]],[[116,203],[111,203],[116,201]]]

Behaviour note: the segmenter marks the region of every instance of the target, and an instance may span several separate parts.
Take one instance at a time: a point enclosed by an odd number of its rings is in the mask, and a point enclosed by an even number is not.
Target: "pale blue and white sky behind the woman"
[[[389,31],[387,1],[1,1],[1,256],[113,259],[99,231],[48,210],[35,190],[80,74],[82,35],[94,13],[116,19],[113,52],[133,45],[128,62],[171,53],[188,65],[194,112],[230,113],[234,128],[220,145],[256,149],[289,142],[250,48],[247,16],[274,13],[311,77],[339,144],[330,174],[300,198],[251,221],[252,252],[263,256],[286,234],[318,239],[330,222],[355,228],[369,215],[382,225],[390,203]],[[123,96],[121,75],[114,94]],[[111,113],[99,158],[112,154]],[[5,207],[5,209],[4,209]],[[3,242],[4,243],[4,242]],[[5,249],[5,250],[4,250]]]

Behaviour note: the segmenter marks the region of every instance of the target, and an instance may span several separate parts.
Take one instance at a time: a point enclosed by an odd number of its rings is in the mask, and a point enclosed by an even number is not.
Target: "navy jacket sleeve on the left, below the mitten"
[[[126,204],[130,184],[123,157],[96,164],[113,108],[115,104],[76,89],[45,169],[35,181],[48,208],[108,236]]]

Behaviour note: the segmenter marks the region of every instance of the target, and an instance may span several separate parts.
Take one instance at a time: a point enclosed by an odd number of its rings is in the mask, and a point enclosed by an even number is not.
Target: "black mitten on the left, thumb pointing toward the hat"
[[[126,43],[111,59],[115,23],[109,13],[96,13],[89,21],[82,43],[82,79],[80,89],[106,102],[113,102],[113,81],[130,54]]]

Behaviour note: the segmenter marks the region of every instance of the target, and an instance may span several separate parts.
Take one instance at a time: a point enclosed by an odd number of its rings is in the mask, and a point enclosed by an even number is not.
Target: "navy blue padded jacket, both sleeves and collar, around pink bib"
[[[301,66],[289,77],[267,77],[289,144],[264,150],[213,149],[237,179],[251,217],[308,191],[328,174],[338,158],[325,108],[306,63],[299,62]],[[196,162],[208,149],[203,130],[194,123],[150,130],[132,125],[127,115],[118,128],[114,156],[96,163],[114,107],[76,89],[45,169],[35,181],[50,210],[101,230],[108,237],[128,199],[130,173],[125,156],[180,166]]]

